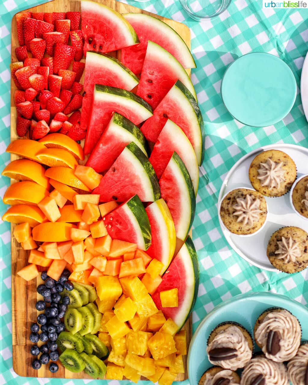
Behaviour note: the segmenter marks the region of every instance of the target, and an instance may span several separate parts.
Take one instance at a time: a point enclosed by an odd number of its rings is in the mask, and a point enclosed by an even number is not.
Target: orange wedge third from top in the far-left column
[[[11,184],[3,196],[3,203],[14,206],[15,204],[30,204],[36,206],[49,191],[35,182],[24,181]]]

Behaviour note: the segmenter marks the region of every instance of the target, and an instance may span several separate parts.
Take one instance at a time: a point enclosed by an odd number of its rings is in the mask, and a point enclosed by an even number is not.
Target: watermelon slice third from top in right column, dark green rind
[[[156,107],[153,116],[141,126],[141,131],[148,141],[157,141],[167,119],[184,131],[201,166],[205,139],[202,114],[196,100],[179,80]]]

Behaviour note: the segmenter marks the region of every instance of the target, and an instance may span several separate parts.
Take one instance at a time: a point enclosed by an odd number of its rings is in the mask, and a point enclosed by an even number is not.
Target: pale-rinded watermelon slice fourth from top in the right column
[[[189,142],[180,127],[168,119],[158,136],[149,158],[158,179],[162,176],[174,151],[177,152],[184,162],[194,186],[195,196],[197,196],[199,169],[196,154],[191,142]]]

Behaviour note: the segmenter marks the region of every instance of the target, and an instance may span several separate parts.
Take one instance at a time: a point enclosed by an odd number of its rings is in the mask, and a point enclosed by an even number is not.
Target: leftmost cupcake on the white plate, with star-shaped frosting
[[[228,192],[221,201],[220,218],[233,234],[254,234],[265,223],[267,205],[264,197],[252,189],[239,188]]]

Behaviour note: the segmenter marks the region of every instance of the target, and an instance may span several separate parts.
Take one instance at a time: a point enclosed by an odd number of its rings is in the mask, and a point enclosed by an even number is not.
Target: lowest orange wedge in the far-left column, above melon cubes
[[[12,223],[28,222],[31,227],[37,226],[45,220],[46,217],[41,209],[36,206],[28,206],[27,204],[17,204],[10,207],[2,217],[2,221]]]

